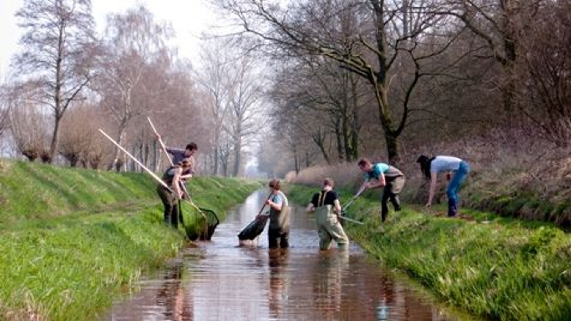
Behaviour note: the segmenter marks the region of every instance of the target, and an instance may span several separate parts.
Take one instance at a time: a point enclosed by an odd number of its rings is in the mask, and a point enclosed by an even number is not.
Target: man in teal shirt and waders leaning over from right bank
[[[368,188],[383,187],[381,196],[381,220],[387,219],[390,200],[395,211],[400,211],[399,193],[404,187],[404,174],[398,168],[385,163],[371,163],[367,158],[359,160],[359,168],[365,173],[365,182],[359,188],[359,194]]]

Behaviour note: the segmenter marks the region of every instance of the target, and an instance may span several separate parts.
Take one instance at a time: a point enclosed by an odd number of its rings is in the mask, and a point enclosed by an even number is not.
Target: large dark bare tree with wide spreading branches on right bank
[[[219,0],[238,18],[246,33],[260,39],[256,46],[278,47],[282,57],[321,55],[367,81],[375,97],[385,134],[389,162],[399,158],[397,139],[411,113],[413,93],[423,77],[423,62],[445,51],[453,38],[423,47],[424,35],[436,38],[445,28],[436,3],[323,0],[289,2]],[[347,31],[351,31],[348,37]],[[400,64],[412,68],[401,73]],[[395,87],[398,78],[400,86]],[[394,96],[394,97],[393,97]]]

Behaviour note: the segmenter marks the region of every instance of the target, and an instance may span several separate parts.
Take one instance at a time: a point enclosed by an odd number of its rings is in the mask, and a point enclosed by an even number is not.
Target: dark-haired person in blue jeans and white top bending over
[[[427,179],[430,179],[428,201],[425,207],[431,207],[432,199],[436,191],[438,173],[447,173],[447,179],[449,180],[448,187],[446,188],[446,195],[448,196],[448,216],[456,216],[460,202],[458,191],[470,171],[468,163],[465,160],[453,156],[436,156],[429,158],[426,155],[420,155],[416,162],[420,164],[420,170],[423,172],[423,175]]]

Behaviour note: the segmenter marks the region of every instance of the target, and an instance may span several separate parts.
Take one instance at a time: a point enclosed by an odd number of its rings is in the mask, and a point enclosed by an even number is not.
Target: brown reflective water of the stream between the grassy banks
[[[288,250],[268,250],[267,231],[239,246],[267,191],[228,212],[210,242],[146,276],[101,320],[468,320],[451,315],[352,243],[319,250],[315,218],[292,206]],[[305,205],[305,204],[303,204]],[[347,223],[349,224],[349,222]],[[267,229],[267,227],[266,227]]]

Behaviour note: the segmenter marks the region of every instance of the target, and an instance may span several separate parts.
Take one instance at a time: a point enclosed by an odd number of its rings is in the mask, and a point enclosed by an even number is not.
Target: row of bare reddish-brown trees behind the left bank
[[[162,171],[167,161],[149,117],[168,146],[198,144],[201,173],[243,173],[263,92],[247,58],[211,54],[207,67],[195,70],[168,45],[172,27],[142,5],[108,15],[102,35],[89,0],[25,0],[16,15],[23,51],[0,84],[0,138],[14,155],[140,170],[98,133],[103,129]],[[215,72],[222,74],[209,74]]]

